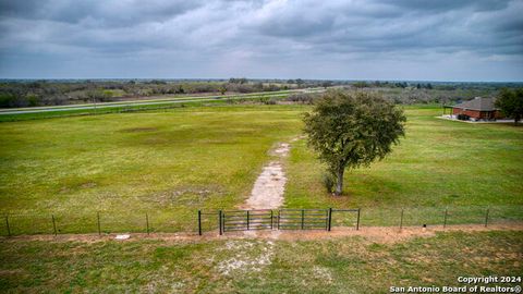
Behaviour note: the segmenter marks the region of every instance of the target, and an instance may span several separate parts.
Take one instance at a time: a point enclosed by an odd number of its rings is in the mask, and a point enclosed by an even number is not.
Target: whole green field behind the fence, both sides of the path
[[[302,106],[221,106],[0,124],[0,209],[14,234],[58,230],[194,231],[197,209],[248,196],[268,150],[301,134]],[[364,225],[523,219],[523,127],[436,119],[408,107],[406,137],[384,161],[348,172],[345,196],[321,185],[323,167],[294,144],[285,206],[362,207]],[[351,220],[349,220],[351,222]],[[2,222],[3,225],[3,222]],[[4,229],[2,234],[5,233]]]

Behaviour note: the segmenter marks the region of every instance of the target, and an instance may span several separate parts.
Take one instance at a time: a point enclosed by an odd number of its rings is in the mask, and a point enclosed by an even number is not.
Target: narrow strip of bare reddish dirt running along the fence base
[[[314,241],[314,240],[329,240],[338,237],[362,236],[373,242],[378,243],[396,243],[408,241],[413,237],[430,237],[437,232],[486,232],[486,231],[523,231],[523,222],[504,223],[504,224],[489,224],[485,228],[483,224],[459,224],[448,225],[443,229],[441,225],[430,226],[424,230],[421,226],[404,226],[401,232],[397,226],[364,226],[356,231],[354,228],[333,228],[331,232],[327,231],[257,231],[252,234],[252,231],[226,233],[219,235],[218,232],[205,233],[203,236],[196,233],[153,233],[147,235],[145,233],[133,233],[129,240],[117,241],[115,234],[63,234],[63,235],[21,235],[12,237],[0,237],[0,242],[17,242],[17,241],[51,241],[51,242],[133,242],[143,240],[160,240],[168,242],[206,242],[217,240],[281,240],[281,241]]]

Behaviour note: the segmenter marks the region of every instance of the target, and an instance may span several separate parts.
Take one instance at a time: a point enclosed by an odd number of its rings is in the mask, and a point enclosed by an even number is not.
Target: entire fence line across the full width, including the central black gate
[[[243,230],[329,230],[336,228],[511,223],[523,221],[523,206],[410,207],[362,209],[200,210],[182,216],[150,211],[85,215],[0,213],[0,235],[77,233],[227,233]]]

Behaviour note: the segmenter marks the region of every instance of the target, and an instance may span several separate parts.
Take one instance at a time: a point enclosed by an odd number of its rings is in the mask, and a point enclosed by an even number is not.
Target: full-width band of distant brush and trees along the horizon
[[[321,79],[48,79],[0,82],[0,108],[100,102],[163,95],[247,94],[307,87],[343,86],[378,91],[400,103],[446,102],[475,96],[494,96],[503,87],[521,83],[362,82]],[[294,97],[296,98],[296,97]],[[293,98],[293,99],[294,99]],[[292,99],[291,99],[292,100]],[[300,97],[299,101],[309,101]]]

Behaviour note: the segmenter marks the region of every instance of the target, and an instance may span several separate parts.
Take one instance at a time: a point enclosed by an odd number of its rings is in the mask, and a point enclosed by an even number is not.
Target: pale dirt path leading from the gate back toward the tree
[[[290,144],[280,143],[272,150],[277,159],[264,167],[243,209],[277,209],[283,205],[287,177],[281,159],[289,155],[290,148]]]

